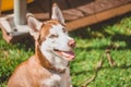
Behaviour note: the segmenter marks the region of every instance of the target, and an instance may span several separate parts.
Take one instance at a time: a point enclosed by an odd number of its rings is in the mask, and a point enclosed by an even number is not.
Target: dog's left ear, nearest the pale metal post
[[[37,21],[34,16],[27,16],[27,25],[29,27],[29,34],[37,40],[43,23]]]

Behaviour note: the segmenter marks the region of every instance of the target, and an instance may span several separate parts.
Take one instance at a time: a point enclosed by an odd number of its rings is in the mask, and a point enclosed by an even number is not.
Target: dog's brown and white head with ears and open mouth
[[[74,59],[75,54],[72,49],[75,47],[75,41],[68,35],[64,18],[57,4],[52,7],[50,21],[41,23],[33,16],[28,16],[27,21],[31,27],[29,33],[43,54],[51,53],[68,61]]]

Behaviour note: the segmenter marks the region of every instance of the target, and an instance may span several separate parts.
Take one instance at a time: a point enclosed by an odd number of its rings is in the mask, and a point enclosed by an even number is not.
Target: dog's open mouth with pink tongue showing
[[[61,55],[63,58],[66,58],[67,60],[71,61],[75,58],[75,53],[73,51],[61,51],[58,49],[53,49],[53,51],[58,54]]]

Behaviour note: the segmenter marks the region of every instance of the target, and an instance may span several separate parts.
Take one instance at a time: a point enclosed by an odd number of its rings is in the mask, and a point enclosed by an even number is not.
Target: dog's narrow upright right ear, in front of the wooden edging
[[[59,9],[57,3],[52,4],[51,18],[52,20],[58,20],[60,23],[64,24],[64,18],[63,18],[62,12]]]

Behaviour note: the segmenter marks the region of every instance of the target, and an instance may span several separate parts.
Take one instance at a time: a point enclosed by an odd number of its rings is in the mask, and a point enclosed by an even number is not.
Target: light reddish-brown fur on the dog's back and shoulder
[[[16,67],[8,87],[46,87],[40,85],[39,82],[50,76],[51,73],[43,67],[37,55],[33,55]]]

